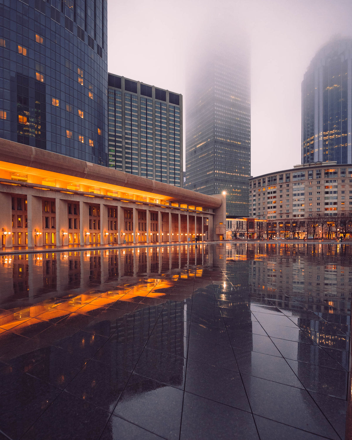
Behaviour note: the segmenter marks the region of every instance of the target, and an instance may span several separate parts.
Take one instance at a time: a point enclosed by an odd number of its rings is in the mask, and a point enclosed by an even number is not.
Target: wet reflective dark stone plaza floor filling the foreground
[[[0,256],[0,440],[344,439],[352,246]]]

